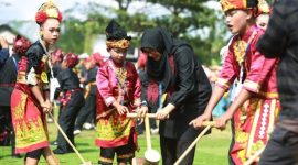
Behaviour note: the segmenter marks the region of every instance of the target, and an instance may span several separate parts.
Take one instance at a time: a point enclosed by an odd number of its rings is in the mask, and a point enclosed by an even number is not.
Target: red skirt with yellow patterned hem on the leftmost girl
[[[14,88],[11,116],[15,132],[15,153],[26,153],[49,146],[45,116],[28,87]]]

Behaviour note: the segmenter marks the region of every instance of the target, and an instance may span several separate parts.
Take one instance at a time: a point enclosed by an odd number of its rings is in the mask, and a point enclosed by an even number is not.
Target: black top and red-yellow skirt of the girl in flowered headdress
[[[41,91],[49,90],[49,81],[44,77],[49,56],[45,55],[40,42],[34,43],[26,55],[22,56],[19,62],[17,84],[11,95],[15,153],[49,146],[45,116],[38,99],[30,90],[30,86],[34,84],[40,87]]]

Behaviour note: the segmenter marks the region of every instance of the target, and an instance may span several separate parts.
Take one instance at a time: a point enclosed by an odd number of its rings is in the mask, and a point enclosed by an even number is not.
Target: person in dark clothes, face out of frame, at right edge
[[[281,111],[259,165],[298,165],[298,1],[275,1],[257,50],[280,57],[277,69]]]

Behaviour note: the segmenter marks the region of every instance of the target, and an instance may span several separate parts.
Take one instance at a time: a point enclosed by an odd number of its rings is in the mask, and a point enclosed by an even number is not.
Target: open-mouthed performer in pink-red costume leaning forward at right
[[[235,34],[204,114],[191,122],[195,128],[211,119],[211,113],[230,86],[237,80],[238,94],[227,111],[215,119],[224,129],[233,120],[235,139],[230,154],[233,163],[243,164],[267,144],[280,110],[276,68],[278,58],[266,58],[256,50],[264,31],[255,24],[257,0],[221,0],[225,23]]]

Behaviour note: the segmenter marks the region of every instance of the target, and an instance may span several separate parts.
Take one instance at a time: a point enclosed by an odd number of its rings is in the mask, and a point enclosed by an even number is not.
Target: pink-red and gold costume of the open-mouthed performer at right
[[[266,58],[256,50],[262,34],[262,30],[252,26],[243,36],[233,37],[216,82],[227,90],[235,79],[242,81],[243,68],[242,88],[253,92],[233,117],[235,143],[231,156],[235,164],[243,164],[266,145],[280,110],[276,79],[278,58]]]

